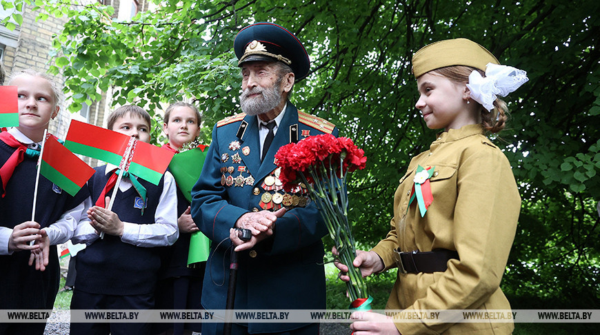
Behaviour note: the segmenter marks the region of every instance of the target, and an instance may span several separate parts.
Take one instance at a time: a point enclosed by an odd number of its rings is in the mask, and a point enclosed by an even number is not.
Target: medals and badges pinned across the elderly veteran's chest
[[[223,186],[237,186],[243,187],[244,185],[254,185],[254,177],[252,175],[244,177],[242,176],[242,172],[246,172],[246,166],[238,166],[237,170],[239,172],[239,176],[233,177],[232,173],[235,171],[235,167],[221,167],[221,185]],[[229,176],[226,176],[226,173],[229,173]],[[261,203],[259,204],[263,210],[279,210],[282,206],[286,207],[305,207],[310,203],[310,198],[308,197],[308,190],[306,189],[306,185],[303,183],[300,184],[299,187],[292,190],[291,193],[288,192],[280,192],[283,190],[283,183],[279,179],[279,174],[281,173],[281,167],[277,167],[277,169],[273,170],[269,176],[266,176],[261,187],[265,192],[261,195]],[[268,191],[275,191],[274,193],[270,193]],[[252,190],[252,194],[259,195],[261,194],[261,190],[259,187],[254,187]]]

